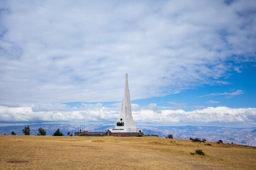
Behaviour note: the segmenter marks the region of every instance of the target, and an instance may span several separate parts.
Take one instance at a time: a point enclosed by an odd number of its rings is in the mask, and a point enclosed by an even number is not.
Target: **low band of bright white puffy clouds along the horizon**
[[[114,104],[115,105],[115,104]],[[67,104],[45,104],[27,107],[0,106],[0,121],[112,121],[115,122],[121,110],[105,107],[101,103],[81,104],[70,107]],[[147,106],[132,104],[136,122],[164,123],[256,123],[256,108],[205,107],[192,111],[174,110],[172,107],[158,107],[155,103]]]

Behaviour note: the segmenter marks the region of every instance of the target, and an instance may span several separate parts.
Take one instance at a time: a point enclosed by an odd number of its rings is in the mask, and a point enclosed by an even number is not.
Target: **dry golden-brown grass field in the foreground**
[[[190,154],[197,149],[205,155]],[[154,136],[5,135],[0,136],[0,169],[256,170],[256,147]]]

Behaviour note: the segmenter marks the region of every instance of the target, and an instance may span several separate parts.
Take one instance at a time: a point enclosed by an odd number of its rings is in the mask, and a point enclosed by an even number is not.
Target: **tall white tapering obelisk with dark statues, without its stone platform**
[[[125,90],[124,99],[122,103],[122,110],[117,121],[117,126],[114,129],[110,129],[111,132],[142,132],[142,129],[138,129],[135,126],[135,122],[132,118],[131,112],[131,99],[128,87],[128,75],[125,75]]]

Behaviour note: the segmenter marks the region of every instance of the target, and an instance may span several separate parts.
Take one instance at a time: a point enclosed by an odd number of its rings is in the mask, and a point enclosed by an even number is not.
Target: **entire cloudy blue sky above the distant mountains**
[[[0,122],[256,126],[255,0],[0,1]]]

